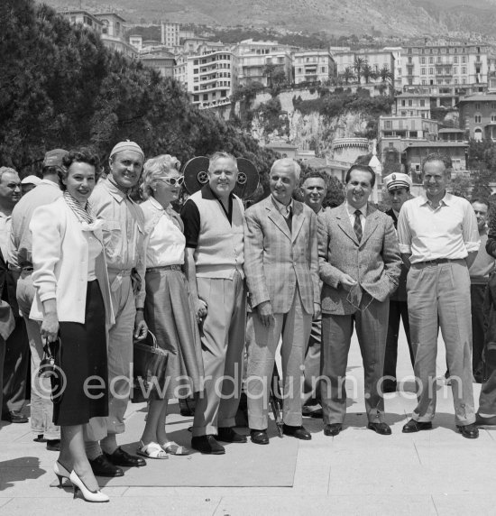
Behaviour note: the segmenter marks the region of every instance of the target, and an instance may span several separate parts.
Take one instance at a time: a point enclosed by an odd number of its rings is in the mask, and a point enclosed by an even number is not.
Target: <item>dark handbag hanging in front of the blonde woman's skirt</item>
[[[133,343],[133,403],[148,401],[152,392],[161,392],[166,379],[169,354],[157,344],[149,330],[144,340]]]

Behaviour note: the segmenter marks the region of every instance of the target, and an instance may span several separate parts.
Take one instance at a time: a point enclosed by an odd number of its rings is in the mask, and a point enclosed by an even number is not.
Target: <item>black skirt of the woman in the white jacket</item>
[[[60,322],[59,389],[53,392],[53,422],[86,424],[108,416],[106,313],[98,281],[88,281],[85,324]]]

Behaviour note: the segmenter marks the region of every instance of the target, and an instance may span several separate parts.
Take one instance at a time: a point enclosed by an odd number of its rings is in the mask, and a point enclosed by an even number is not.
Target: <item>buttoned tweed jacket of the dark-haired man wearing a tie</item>
[[[401,258],[393,221],[370,204],[360,243],[345,203],[318,217],[318,255],[324,282],[323,313],[348,315],[355,311],[340,284],[343,272],[378,301],[388,299],[398,287]]]

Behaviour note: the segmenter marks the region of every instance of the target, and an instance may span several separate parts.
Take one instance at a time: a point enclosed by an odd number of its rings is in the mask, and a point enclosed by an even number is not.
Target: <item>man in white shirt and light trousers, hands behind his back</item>
[[[481,239],[470,203],[446,192],[451,160],[429,154],[424,161],[425,195],[401,207],[400,251],[410,264],[409,322],[418,379],[418,406],[404,433],[432,428],[436,411],[437,329],[446,346],[455,403],[456,428],[478,438],[474,426],[472,321],[468,269]]]

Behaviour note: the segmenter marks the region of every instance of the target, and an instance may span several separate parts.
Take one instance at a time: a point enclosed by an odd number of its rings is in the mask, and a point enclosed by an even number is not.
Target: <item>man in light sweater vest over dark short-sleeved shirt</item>
[[[225,152],[210,158],[208,183],[181,210],[186,235],[185,272],[203,319],[205,389],[195,408],[191,447],[220,455],[226,443],[244,443],[233,427],[242,381],[246,327],[244,288],[244,208],[233,194],[237,162]]]

